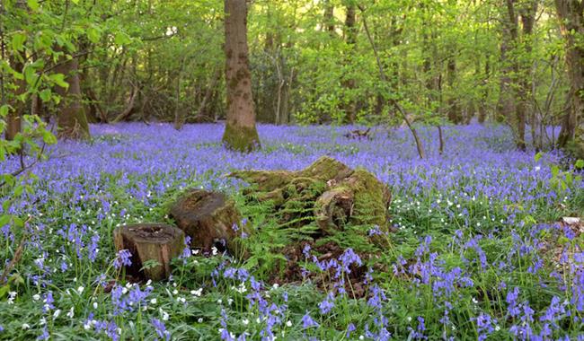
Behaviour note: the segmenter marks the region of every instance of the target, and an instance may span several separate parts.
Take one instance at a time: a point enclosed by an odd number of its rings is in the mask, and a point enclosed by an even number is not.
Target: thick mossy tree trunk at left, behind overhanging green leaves
[[[57,116],[58,136],[64,138],[89,138],[89,125],[82,105],[82,93],[79,82],[79,61],[76,57],[66,60],[61,57],[55,68],[58,74],[65,74],[68,87],[55,87],[61,97]]]

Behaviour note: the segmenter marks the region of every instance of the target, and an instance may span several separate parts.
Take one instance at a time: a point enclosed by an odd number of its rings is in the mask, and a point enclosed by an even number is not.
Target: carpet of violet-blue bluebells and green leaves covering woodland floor
[[[574,161],[518,152],[500,126],[447,127],[442,154],[436,129],[421,129],[424,160],[406,130],[348,130],[260,126],[250,154],[226,151],[221,125],[102,125],[90,142],[60,142],[32,170],[34,190],[2,208],[30,217],[25,231],[0,226],[4,264],[28,236],[0,295],[0,339],[584,340],[584,237],[558,223],[584,215]],[[117,225],[165,222],[186,188],[235,195],[232,170],[299,170],[322,155],[387,183],[397,230],[374,258],[345,249],[321,261],[306,247],[305,272],[336,290],[311,276],[271,284],[253,264],[186,245],[169,281],[123,277]],[[261,233],[254,214],[244,219]],[[368,269],[357,298],[343,289],[356,267]]]

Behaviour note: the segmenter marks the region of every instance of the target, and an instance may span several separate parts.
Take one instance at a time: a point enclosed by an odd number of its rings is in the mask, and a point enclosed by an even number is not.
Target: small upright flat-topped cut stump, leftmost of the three
[[[184,233],[162,223],[119,226],[113,232],[113,240],[118,251],[128,249],[132,254],[127,274],[154,281],[171,275],[171,260],[184,249]]]

